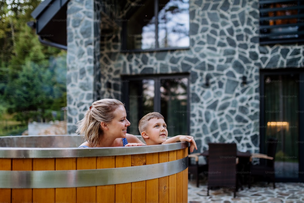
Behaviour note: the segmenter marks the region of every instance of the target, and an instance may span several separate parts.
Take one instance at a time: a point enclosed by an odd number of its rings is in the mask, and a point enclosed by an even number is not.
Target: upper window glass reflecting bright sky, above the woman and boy
[[[187,48],[189,0],[147,0],[130,4],[125,22],[127,50]]]

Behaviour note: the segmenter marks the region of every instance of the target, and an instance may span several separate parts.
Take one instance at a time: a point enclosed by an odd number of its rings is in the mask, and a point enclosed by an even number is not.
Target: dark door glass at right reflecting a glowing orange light
[[[299,75],[268,75],[265,78],[265,142],[278,139],[275,168],[277,177],[298,177]]]

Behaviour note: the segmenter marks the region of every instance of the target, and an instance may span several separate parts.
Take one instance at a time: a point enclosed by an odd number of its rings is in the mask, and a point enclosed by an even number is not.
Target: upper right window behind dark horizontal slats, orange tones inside
[[[303,0],[260,0],[260,44],[303,41]]]

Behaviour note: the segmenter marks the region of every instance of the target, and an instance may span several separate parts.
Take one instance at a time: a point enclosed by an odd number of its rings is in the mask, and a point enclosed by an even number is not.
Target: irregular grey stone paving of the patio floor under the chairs
[[[188,183],[188,203],[304,203],[304,183],[276,183],[273,189],[272,183],[259,182],[249,189],[247,185],[243,190],[237,191],[233,198],[233,190],[216,189],[209,190],[207,196],[207,182],[204,181],[196,187],[195,180]]]

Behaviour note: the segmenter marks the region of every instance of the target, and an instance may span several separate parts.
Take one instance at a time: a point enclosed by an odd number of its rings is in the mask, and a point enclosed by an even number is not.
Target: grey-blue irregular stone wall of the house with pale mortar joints
[[[258,0],[190,0],[187,50],[124,52],[121,25],[115,22],[113,29],[102,28],[99,56],[88,50],[96,48],[100,30],[91,35],[81,32],[93,29],[93,19],[85,12],[92,12],[87,7],[90,1],[78,2],[82,1],[71,1],[68,6],[68,31],[72,33],[67,59],[69,133],[93,100],[121,99],[121,74],[188,72],[190,131],[199,151],[208,142],[236,142],[238,149],[258,152],[260,69],[304,67],[303,46],[259,45]],[[79,8],[77,13],[72,12],[74,7]],[[82,24],[73,23],[83,16]]]

